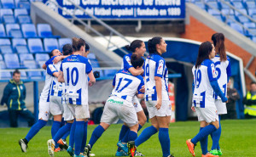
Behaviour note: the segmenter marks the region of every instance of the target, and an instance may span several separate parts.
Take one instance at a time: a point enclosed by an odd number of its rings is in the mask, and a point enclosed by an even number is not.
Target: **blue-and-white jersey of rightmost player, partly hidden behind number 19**
[[[228,77],[231,76],[231,66],[230,66],[230,58],[227,57],[227,60],[224,62],[220,62],[219,55],[217,54],[212,61],[214,62],[216,75],[218,79],[218,86],[222,90],[225,96],[227,96],[227,83]],[[214,95],[215,99],[221,99],[218,95]]]

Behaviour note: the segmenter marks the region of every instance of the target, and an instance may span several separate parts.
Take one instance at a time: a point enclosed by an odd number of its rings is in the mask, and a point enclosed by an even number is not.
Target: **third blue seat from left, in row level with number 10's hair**
[[[30,53],[44,53],[43,43],[41,39],[27,39],[27,44]]]

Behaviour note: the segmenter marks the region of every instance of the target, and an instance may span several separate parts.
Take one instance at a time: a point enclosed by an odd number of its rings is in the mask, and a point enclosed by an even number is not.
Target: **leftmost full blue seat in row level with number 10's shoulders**
[[[3,55],[6,68],[17,69],[20,68],[20,61],[16,53]]]

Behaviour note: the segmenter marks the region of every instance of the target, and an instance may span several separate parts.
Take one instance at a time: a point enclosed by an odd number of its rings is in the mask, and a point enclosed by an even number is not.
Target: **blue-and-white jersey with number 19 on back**
[[[213,97],[213,89],[211,81],[217,81],[217,75],[214,63],[210,59],[205,59],[200,67],[192,68],[194,76],[194,94],[193,105],[195,107],[207,108],[215,106],[215,98]]]

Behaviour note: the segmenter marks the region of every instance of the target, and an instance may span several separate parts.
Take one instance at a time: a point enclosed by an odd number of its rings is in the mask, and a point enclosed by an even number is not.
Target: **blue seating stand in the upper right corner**
[[[208,14],[212,14],[216,19],[230,25],[234,30],[255,42],[256,33],[251,30],[255,28],[255,21],[252,21],[243,15],[246,14],[253,18],[253,20],[256,20],[256,2],[254,0],[225,0],[226,3],[230,3],[230,5],[234,6],[236,10],[233,10],[229,5],[218,0],[187,0],[187,2],[194,3],[199,8],[206,10]],[[228,16],[228,18],[225,16]],[[247,29],[249,29],[250,32]]]

